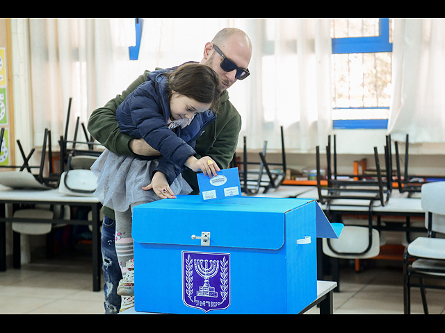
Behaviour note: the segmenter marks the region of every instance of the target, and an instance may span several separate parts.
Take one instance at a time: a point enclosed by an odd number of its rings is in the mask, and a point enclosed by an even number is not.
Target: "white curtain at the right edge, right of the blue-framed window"
[[[388,131],[411,143],[445,142],[445,19],[395,19]]]

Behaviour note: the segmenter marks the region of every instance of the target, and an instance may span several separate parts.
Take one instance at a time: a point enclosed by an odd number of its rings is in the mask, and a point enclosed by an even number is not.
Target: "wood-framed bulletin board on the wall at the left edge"
[[[0,19],[0,166],[15,164],[10,19]],[[0,169],[0,171],[3,169]]]

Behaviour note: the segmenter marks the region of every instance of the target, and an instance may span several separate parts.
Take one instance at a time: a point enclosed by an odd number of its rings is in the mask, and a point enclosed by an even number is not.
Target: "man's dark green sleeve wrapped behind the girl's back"
[[[88,132],[113,153],[135,156],[129,148],[129,142],[132,138],[119,129],[118,121],[116,121],[116,110],[136,87],[145,82],[148,73],[149,71],[145,71],[122,94],[108,101],[102,108],[94,110],[90,119],[88,119]]]

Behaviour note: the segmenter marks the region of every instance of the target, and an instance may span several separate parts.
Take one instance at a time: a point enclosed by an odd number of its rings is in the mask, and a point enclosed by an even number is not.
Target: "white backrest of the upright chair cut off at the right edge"
[[[425,225],[428,228],[428,212],[432,213],[432,231],[445,234],[445,182],[428,182],[422,185],[422,209],[426,212]]]

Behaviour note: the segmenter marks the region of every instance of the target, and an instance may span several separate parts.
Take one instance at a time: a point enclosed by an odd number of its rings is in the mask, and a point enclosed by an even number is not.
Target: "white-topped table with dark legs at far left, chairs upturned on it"
[[[92,211],[92,221],[87,220],[62,220],[62,219],[18,219],[6,217],[6,210],[3,209],[7,203],[29,203],[29,204],[50,204],[50,205],[73,205],[90,207]],[[100,249],[100,216],[99,212],[102,204],[95,196],[68,196],[61,194],[58,189],[10,189],[0,187],[0,271],[6,271],[6,222],[33,222],[33,223],[53,223],[53,224],[76,224],[92,225],[92,289],[100,291],[100,280],[102,275],[102,255]],[[14,267],[20,267],[20,245],[19,237],[14,237]]]

